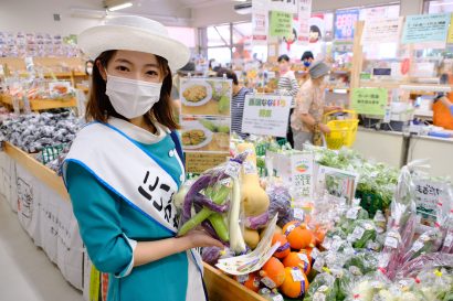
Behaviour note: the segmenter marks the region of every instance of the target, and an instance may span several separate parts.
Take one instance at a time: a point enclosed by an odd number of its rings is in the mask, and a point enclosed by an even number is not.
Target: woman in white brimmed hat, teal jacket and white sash
[[[95,58],[87,123],[63,165],[82,239],[109,275],[107,300],[207,300],[199,256],[221,245],[201,232],[176,237],[172,195],[185,181],[170,105],[170,68],[189,50],[160,23],[117,17],[84,31]]]

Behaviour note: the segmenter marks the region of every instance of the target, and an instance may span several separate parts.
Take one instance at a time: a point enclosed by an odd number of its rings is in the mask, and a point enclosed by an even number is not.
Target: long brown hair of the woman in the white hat
[[[101,75],[97,62],[102,66],[107,67],[116,51],[106,51],[99,54],[93,64],[92,87],[89,90],[88,103],[86,105],[85,118],[87,121],[107,122],[109,117],[116,117],[128,120],[118,114],[112,106],[110,99],[105,94],[106,83]],[[156,55],[161,74],[165,75],[162,88],[160,89],[160,99],[152,108],[145,115],[145,120],[151,125],[151,120],[156,119],[159,123],[166,126],[170,130],[179,129],[175,116],[172,114],[172,105],[170,93],[172,88],[171,72],[166,58]]]

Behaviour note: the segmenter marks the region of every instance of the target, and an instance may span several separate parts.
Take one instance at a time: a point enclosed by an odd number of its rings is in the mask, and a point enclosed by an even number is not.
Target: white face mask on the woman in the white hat
[[[127,119],[148,112],[160,99],[162,83],[148,83],[107,74],[105,94],[117,114]]]

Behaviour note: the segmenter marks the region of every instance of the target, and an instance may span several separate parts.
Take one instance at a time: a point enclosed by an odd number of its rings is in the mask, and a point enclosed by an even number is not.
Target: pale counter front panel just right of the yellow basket
[[[352,149],[366,159],[383,162],[394,168],[400,168],[405,163],[402,132],[359,128]]]

